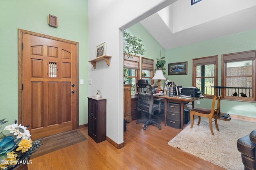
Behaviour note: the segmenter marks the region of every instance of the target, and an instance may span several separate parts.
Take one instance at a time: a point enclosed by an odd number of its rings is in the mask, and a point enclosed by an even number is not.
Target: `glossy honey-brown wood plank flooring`
[[[28,170],[224,170],[168,145],[181,129],[162,122],[162,130],[149,125],[144,131],[143,125],[136,120],[127,123],[122,149],[108,141],[97,144],[88,136],[88,128],[82,128],[88,140],[34,158]]]

